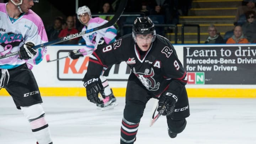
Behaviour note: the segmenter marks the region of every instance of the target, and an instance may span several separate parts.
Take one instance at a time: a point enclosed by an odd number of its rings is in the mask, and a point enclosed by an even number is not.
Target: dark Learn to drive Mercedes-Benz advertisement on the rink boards
[[[183,47],[188,84],[256,83],[255,46]]]

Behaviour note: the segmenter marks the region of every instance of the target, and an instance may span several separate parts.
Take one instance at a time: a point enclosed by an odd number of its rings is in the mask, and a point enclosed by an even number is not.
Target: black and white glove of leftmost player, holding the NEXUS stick
[[[34,44],[32,42],[27,42],[20,47],[20,59],[31,59],[33,58],[37,51],[34,50]]]

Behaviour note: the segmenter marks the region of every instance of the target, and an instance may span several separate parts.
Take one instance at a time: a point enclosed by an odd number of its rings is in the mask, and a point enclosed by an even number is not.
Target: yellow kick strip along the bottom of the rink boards
[[[116,97],[124,97],[126,88],[112,88]],[[86,96],[84,87],[40,87],[42,96]],[[188,97],[201,98],[256,98],[255,89],[191,89],[187,88]],[[0,96],[9,96],[5,89]]]

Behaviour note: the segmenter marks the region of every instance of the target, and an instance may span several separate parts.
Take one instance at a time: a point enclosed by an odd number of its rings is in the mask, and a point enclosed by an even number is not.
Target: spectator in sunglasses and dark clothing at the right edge
[[[256,40],[256,12],[255,11],[247,11],[245,13],[246,23],[242,25],[242,31],[245,37],[248,39],[250,43],[253,43]]]

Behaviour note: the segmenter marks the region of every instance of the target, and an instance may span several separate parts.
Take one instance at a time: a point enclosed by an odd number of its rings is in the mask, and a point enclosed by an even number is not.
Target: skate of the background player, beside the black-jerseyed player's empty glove
[[[109,110],[118,105],[118,103],[116,102],[116,97],[114,97],[113,93],[110,96],[106,96],[106,98],[102,101],[103,103],[101,105],[97,104],[97,108],[102,111]]]

